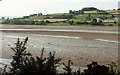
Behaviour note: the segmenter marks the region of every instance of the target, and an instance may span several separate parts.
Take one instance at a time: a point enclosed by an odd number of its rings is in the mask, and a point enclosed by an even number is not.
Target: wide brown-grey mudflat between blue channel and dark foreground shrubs
[[[46,27],[44,26],[44,28]],[[54,28],[54,26],[52,27]],[[60,28],[60,26],[58,27]],[[61,27],[61,29],[65,27]],[[105,29],[104,26],[102,27]],[[111,27],[110,30],[113,29],[117,28]],[[86,67],[92,61],[100,64],[118,63],[118,36],[118,34],[88,32],[2,31],[2,57],[11,59],[13,52],[10,48],[15,46],[17,38],[23,40],[25,37],[29,37],[28,52],[34,56],[40,55],[41,49],[44,47],[46,56],[50,51],[55,51],[56,58],[62,59],[60,64],[67,63],[69,59],[72,60],[73,65],[81,67]]]

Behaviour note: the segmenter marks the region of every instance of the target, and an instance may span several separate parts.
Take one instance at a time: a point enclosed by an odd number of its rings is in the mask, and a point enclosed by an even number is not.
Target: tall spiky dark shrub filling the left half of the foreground
[[[16,46],[11,48],[14,51],[13,61],[11,62],[10,71],[5,68],[2,75],[56,75],[56,67],[61,59],[55,59],[55,52],[49,53],[48,57],[41,56],[33,58],[32,54],[26,52],[28,37],[24,41],[18,39]]]

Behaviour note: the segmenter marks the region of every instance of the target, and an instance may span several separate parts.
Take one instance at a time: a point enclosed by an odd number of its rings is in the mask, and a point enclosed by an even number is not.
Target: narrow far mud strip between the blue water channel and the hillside
[[[95,30],[95,31],[119,31],[118,26],[56,26],[56,25],[1,25],[1,29],[62,29],[62,30]]]

